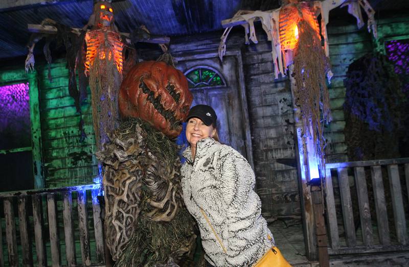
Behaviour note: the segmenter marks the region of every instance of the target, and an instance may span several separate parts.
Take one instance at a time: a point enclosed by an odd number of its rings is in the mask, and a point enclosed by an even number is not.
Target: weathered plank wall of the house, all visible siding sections
[[[409,17],[380,20],[378,34],[390,38],[409,34]],[[242,29],[232,32],[228,50],[240,49],[243,59],[244,81],[247,94],[257,191],[262,200],[263,215],[267,219],[277,216],[300,216],[300,194],[297,169],[279,163],[280,159],[296,162],[294,150],[293,112],[289,81],[274,80],[271,45],[261,28],[258,44],[244,44]],[[328,140],[327,162],[346,161],[343,103],[343,80],[348,65],[372,51],[373,42],[365,29],[355,25],[328,25],[330,58],[334,77],[330,85],[333,121],[325,129]],[[175,56],[185,53],[217,51],[218,33],[172,38],[171,52]],[[160,51],[144,49],[143,59],[155,59]],[[46,167],[46,185],[58,187],[90,183],[97,175],[94,134],[89,100],[82,105],[86,138],[81,141],[78,128],[79,114],[68,93],[65,61],[51,66],[52,82],[48,80],[47,65],[37,65],[40,91],[42,146]],[[88,91],[89,93],[89,91]],[[282,160],[281,160],[282,162]]]

